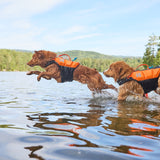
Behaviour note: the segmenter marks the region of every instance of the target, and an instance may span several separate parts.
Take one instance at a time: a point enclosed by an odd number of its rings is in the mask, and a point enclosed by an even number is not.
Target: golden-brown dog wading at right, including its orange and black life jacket
[[[128,96],[142,100],[143,96],[155,90],[160,94],[160,68],[135,71],[123,61],[114,62],[104,71],[106,77],[113,77],[119,83],[118,100],[126,100]]]

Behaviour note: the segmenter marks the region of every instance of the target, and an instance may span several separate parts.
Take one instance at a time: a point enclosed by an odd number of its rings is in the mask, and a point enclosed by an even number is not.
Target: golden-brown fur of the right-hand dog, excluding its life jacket
[[[134,69],[123,61],[114,62],[110,65],[109,69],[104,71],[106,77],[113,77],[117,82],[123,78],[127,78],[134,72]],[[155,91],[160,94],[160,78],[158,79],[158,88]],[[136,81],[126,82],[119,87],[118,100],[124,101],[127,97],[132,96],[134,99],[142,100],[144,91],[142,86]]]

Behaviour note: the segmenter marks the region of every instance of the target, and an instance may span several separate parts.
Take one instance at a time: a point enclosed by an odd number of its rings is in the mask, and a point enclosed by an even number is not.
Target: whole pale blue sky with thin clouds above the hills
[[[0,0],[0,49],[143,56],[160,0]]]

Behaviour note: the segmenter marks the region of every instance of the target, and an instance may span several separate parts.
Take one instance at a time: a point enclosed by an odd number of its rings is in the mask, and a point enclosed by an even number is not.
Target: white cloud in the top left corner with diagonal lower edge
[[[50,10],[66,0],[5,0],[0,2],[0,18],[28,17]]]

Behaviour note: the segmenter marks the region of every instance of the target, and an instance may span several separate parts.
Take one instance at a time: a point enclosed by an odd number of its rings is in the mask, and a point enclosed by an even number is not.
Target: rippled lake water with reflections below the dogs
[[[0,72],[0,160],[159,159],[160,96],[154,103],[116,98],[112,90],[93,98],[75,81]]]

